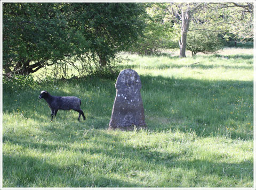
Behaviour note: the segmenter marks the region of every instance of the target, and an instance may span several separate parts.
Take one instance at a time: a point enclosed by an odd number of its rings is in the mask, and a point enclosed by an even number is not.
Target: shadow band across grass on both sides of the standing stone
[[[146,123],[151,131],[179,129],[185,133],[195,131],[198,136],[253,139],[253,128],[249,126],[253,123],[252,81],[174,79],[149,75],[140,77]],[[66,82],[60,82],[59,86],[62,84],[67,85]],[[77,122],[78,113],[75,111],[59,111],[57,118],[50,123],[51,111],[47,103],[42,102],[44,100],[34,101],[33,107],[22,97],[19,102],[13,102],[16,94],[7,94],[6,97],[4,93],[4,112],[19,114],[17,107],[26,110],[22,117],[34,119],[48,133],[55,133],[62,124],[74,129],[74,133],[78,129],[90,127],[107,129],[116,95],[115,81],[70,80],[68,83],[70,87],[78,84],[83,87],[80,93],[52,89],[55,91],[52,94],[81,98],[82,109],[87,116],[85,121]],[[34,91],[31,96],[38,98],[38,92]],[[24,97],[27,98],[26,92]],[[59,139],[61,135],[69,136],[70,128],[64,129],[59,135],[55,134]]]

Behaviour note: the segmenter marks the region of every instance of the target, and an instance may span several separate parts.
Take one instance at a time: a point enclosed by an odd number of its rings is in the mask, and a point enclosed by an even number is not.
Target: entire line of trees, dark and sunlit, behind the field
[[[3,3],[3,74],[112,71],[117,53],[210,53],[253,38],[252,3]]]

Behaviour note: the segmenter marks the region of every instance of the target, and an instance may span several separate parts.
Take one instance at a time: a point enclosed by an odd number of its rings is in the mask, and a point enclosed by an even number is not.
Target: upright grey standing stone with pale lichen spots
[[[140,89],[141,81],[137,72],[126,69],[119,73],[109,129],[146,128]]]

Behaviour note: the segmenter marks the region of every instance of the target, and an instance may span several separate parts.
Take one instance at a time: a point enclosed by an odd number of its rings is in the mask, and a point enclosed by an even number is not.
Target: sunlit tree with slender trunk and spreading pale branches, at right
[[[227,33],[242,39],[253,36],[252,3],[164,3],[159,7],[164,20],[172,23],[173,33],[177,33],[174,40],[179,42],[180,57],[186,57],[187,36],[191,31],[193,35],[190,36],[197,34],[198,37],[209,36],[210,32],[216,33],[211,36],[222,33],[225,38],[228,38]]]

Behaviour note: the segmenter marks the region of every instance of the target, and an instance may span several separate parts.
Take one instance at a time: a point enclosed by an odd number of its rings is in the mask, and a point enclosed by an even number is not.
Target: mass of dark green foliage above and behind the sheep
[[[142,14],[135,3],[4,3],[4,74],[49,65],[63,76],[68,65],[79,75],[98,70],[138,38]]]

